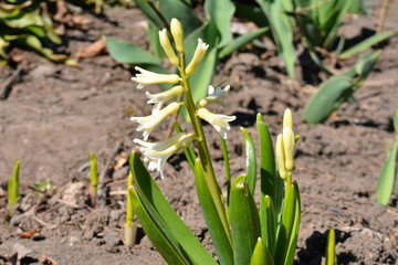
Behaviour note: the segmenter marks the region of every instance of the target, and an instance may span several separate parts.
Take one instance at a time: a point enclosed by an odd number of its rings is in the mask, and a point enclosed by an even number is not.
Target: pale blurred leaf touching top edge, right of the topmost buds
[[[214,21],[221,36],[218,46],[224,46],[232,40],[231,19],[235,11],[234,4],[230,0],[207,0],[205,1],[205,10]]]

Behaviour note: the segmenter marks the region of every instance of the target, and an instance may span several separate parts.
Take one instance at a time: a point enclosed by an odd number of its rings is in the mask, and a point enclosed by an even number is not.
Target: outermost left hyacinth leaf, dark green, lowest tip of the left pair
[[[134,187],[128,189],[128,194],[134,204],[134,209],[139,219],[145,233],[148,235],[150,242],[156,246],[156,250],[165,258],[168,264],[185,265],[190,264],[189,261],[181,254],[180,250],[176,248],[174,242],[170,241],[165,233],[164,227],[157,225],[156,220],[145,209],[143,201],[137,194]]]

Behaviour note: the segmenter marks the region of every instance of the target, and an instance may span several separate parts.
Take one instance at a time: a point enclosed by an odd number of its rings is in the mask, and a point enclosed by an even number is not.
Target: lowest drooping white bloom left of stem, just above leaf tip
[[[147,142],[140,139],[134,139],[134,142],[142,146],[140,151],[145,156],[145,161],[148,161],[149,170],[157,170],[164,179],[164,169],[167,159],[179,150],[190,147],[192,145],[192,135],[180,132],[176,136],[159,142]]]

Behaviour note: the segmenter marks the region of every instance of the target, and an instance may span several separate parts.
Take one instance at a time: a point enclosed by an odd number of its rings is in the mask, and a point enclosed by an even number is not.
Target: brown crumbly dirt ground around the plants
[[[83,12],[88,30],[66,31],[64,46],[75,54],[102,35],[132,41],[147,47],[145,18],[135,9],[109,9],[103,18]],[[392,1],[386,29],[398,30],[398,3]],[[356,36],[375,29],[377,19],[352,19],[344,32]],[[349,38],[352,38],[349,36]],[[375,188],[386,146],[394,138],[392,114],[398,106],[398,36],[390,39],[367,83],[324,125],[302,121],[303,107],[315,88],[305,85],[306,66],[297,66],[298,81],[289,81],[280,60],[263,59],[244,50],[221,62],[216,82],[229,76],[231,85],[226,115],[235,115],[228,136],[233,176],[244,171],[240,126],[256,138],[255,114],[262,113],[275,136],[283,110],[294,112],[297,180],[302,197],[302,223],[296,264],[324,262],[329,226],[336,230],[338,264],[398,263],[398,189],[391,203],[375,203]],[[20,78],[10,96],[0,102],[0,219],[6,216],[7,179],[14,159],[21,160],[21,201],[8,224],[0,224],[0,264],[18,253],[21,264],[166,264],[143,230],[130,250],[122,242],[125,186],[128,167],[123,159],[140,137],[129,116],[150,112],[145,93],[137,91],[126,66],[108,55],[80,61],[81,67],[53,64],[22,52]],[[13,70],[0,70],[0,84]],[[158,87],[148,87],[156,92]],[[167,125],[158,128],[161,132]],[[223,176],[218,135],[209,126],[209,145],[216,170]],[[161,139],[161,134],[153,134]],[[275,139],[274,139],[275,140]],[[98,170],[109,190],[106,205],[88,203],[88,153],[98,157]],[[170,203],[205,245],[206,233],[193,177],[184,156],[166,166],[158,180]],[[115,167],[115,163],[118,162]],[[50,179],[52,190],[34,192],[36,181]],[[220,179],[222,184],[223,179]],[[139,224],[138,224],[139,225]],[[31,239],[22,232],[40,230]]]

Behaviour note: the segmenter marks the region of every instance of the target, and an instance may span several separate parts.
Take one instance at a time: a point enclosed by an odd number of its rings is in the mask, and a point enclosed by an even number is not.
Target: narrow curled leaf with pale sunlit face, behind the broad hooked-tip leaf
[[[248,131],[241,127],[244,139],[245,155],[247,155],[247,176],[248,187],[252,195],[254,195],[255,181],[256,181],[256,157],[253,139]]]

